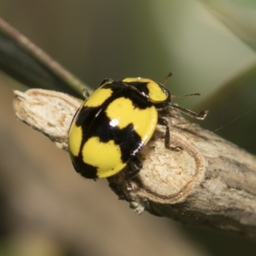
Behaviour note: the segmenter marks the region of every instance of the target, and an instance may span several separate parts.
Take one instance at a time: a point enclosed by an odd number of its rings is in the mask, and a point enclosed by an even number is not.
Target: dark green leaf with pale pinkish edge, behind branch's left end
[[[79,97],[85,86],[0,17],[0,68],[29,87]]]

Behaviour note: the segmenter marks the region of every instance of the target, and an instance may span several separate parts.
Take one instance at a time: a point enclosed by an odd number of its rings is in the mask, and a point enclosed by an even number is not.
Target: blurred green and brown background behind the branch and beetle
[[[217,133],[256,154],[254,1],[1,0],[0,16],[93,88],[171,71],[171,93],[202,93],[179,100],[210,110],[202,127],[243,115]],[[15,120],[12,90],[24,86],[0,70],[0,255],[255,255],[243,237],[135,216],[106,180],[79,177],[65,152]]]

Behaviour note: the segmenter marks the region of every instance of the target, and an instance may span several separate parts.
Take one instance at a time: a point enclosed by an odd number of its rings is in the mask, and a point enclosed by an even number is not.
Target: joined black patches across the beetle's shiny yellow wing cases
[[[124,129],[120,129],[117,126],[112,127],[110,125],[111,120],[105,113],[109,104],[116,99],[124,97],[125,99],[131,100],[134,108],[147,109],[153,105],[152,102],[141,96],[140,93],[125,86],[122,81],[110,84],[107,83],[103,85],[102,88],[110,88],[113,91],[112,95],[100,106],[83,106],[76,117],[76,125],[81,126],[83,129],[83,139],[79,150],[79,156],[75,157],[75,161],[73,163],[75,170],[88,179],[97,178],[97,167],[84,163],[86,159],[83,159],[82,156],[84,143],[86,143],[90,138],[97,137],[104,143],[109,140],[115,141],[115,144],[120,147],[123,163],[130,161],[132,157],[136,156],[141,147],[143,147],[141,137],[136,131],[134,131],[133,124],[128,124]]]

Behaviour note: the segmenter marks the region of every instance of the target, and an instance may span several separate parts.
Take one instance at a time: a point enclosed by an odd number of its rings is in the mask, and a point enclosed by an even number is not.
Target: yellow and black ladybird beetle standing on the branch
[[[165,147],[177,152],[181,149],[170,147],[168,123],[159,116],[159,111],[171,106],[197,119],[207,115],[207,111],[196,114],[173,104],[175,97],[163,84],[151,79],[104,79],[83,102],[70,126],[68,147],[76,172],[97,179],[126,169],[127,188],[131,189],[129,179],[142,168],[137,154],[150,140],[157,124],[166,127]]]

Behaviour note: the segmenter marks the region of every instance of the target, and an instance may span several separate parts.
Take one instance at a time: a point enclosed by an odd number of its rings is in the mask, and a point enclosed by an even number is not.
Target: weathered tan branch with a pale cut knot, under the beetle
[[[64,93],[32,89],[15,91],[17,117],[67,150],[68,129],[81,100]],[[256,237],[256,157],[216,134],[170,112],[172,146],[164,148],[164,128],[157,126],[141,150],[143,169],[131,180],[124,173],[109,186],[138,214],[148,211],[189,225],[220,228]]]

